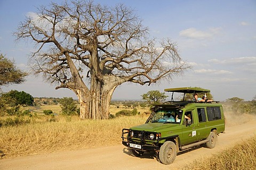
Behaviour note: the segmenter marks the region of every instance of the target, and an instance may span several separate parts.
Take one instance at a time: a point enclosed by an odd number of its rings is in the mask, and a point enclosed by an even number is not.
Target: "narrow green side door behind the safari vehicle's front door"
[[[205,108],[197,108],[196,109],[197,112],[197,118],[198,118],[198,122],[197,122],[197,139],[201,140],[201,139],[206,139],[207,136],[209,135],[209,130],[207,128],[207,122],[206,122],[206,115],[205,115]]]

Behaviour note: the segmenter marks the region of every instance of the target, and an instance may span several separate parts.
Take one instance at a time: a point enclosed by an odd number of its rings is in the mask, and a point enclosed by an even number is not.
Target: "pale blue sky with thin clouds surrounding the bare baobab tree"
[[[30,12],[50,0],[0,0],[0,53],[27,70],[29,42],[15,41],[13,32]],[[62,1],[52,1],[60,3]],[[152,37],[170,38],[177,43],[183,61],[193,68],[172,81],[141,86],[124,83],[113,99],[141,99],[150,90],[201,87],[210,89],[214,100],[239,97],[252,100],[256,95],[256,0],[151,1],[95,0],[113,6],[122,3],[135,10]],[[2,91],[25,91],[33,97],[73,97],[69,89],[55,90],[55,84],[30,74],[26,82],[2,87]],[[171,96],[171,94],[166,93]],[[170,99],[170,98],[167,98]]]

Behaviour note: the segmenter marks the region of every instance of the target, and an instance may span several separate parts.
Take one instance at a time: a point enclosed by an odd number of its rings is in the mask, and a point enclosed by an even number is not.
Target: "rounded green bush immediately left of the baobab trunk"
[[[64,97],[60,99],[60,107],[65,115],[76,115],[77,105],[73,98]]]

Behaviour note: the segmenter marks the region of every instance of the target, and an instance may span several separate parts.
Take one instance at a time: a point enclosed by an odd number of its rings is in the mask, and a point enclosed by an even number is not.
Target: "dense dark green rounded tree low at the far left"
[[[34,97],[24,91],[11,90],[2,94],[2,98],[10,100],[11,106],[32,106],[34,104]]]

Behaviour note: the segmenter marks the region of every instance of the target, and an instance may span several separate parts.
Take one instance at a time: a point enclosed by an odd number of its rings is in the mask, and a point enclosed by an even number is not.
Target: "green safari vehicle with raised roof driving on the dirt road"
[[[199,88],[171,88],[171,101],[154,105],[145,124],[122,130],[122,143],[134,156],[155,151],[162,164],[174,162],[177,153],[205,145],[214,148],[217,135],[225,131],[225,117],[219,101],[184,101],[185,94],[207,93]],[[174,101],[174,92],[183,93],[182,101]]]

